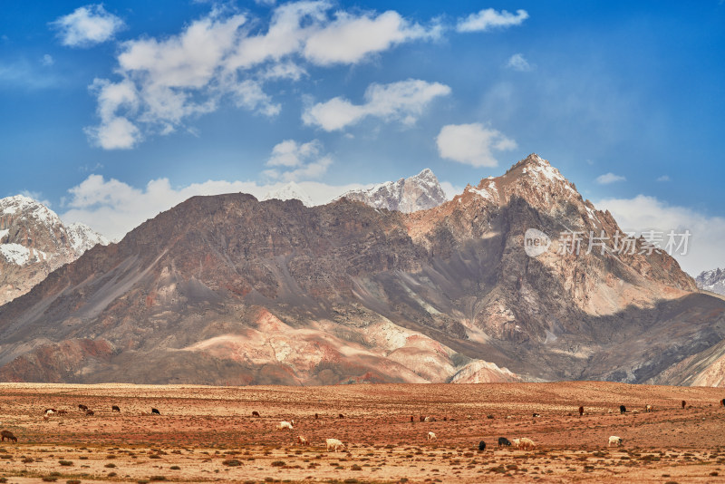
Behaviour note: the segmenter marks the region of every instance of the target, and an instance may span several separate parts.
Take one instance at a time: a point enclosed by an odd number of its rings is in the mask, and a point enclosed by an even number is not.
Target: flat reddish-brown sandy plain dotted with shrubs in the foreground
[[[1,383],[0,429],[18,441],[0,443],[0,482],[725,482],[722,398],[723,389],[604,382]],[[46,408],[67,414],[43,421]],[[283,420],[294,431],[277,430]],[[610,435],[623,447],[608,448]],[[500,436],[528,437],[536,450],[499,449]],[[327,452],[328,438],[347,449]]]

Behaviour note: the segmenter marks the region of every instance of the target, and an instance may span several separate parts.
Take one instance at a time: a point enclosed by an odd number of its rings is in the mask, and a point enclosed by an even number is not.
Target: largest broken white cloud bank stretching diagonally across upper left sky
[[[397,44],[440,35],[440,26],[425,28],[393,11],[329,15],[332,8],[326,1],[275,6],[265,32],[261,19],[214,7],[178,34],[122,43],[115,71],[119,80],[97,80],[92,86],[101,120],[86,132],[104,149],[131,148],[150,135],[178,131],[227,101],[275,116],[282,106],[265,92],[266,82],[298,81],[307,74],[304,63],[360,63]],[[129,83],[133,103],[107,102],[102,96],[104,87]],[[409,111],[411,121],[415,110]]]

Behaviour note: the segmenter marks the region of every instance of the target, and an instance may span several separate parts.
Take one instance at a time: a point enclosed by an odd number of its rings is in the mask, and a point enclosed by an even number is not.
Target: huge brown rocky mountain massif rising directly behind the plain
[[[618,232],[536,155],[411,213],[189,198],[0,307],[0,379],[666,383],[707,371],[725,301]],[[590,233],[594,250],[567,243]]]

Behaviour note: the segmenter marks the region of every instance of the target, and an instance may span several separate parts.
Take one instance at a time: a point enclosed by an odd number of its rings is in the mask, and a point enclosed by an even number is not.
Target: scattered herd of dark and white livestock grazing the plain
[[[685,402],[683,400],[681,402],[681,406],[682,406],[682,409],[687,408],[687,402]],[[720,400],[720,406],[725,406],[725,398]],[[78,404],[78,410],[84,412],[85,415],[87,415],[87,416],[92,416],[95,414],[94,411],[92,411],[91,409],[88,408],[88,406],[83,405],[82,403]],[[119,413],[121,413],[121,408],[118,405],[111,405],[111,412],[113,412],[113,411],[118,411]],[[584,415],[584,406],[580,406],[578,411],[579,411],[579,417],[583,416]],[[645,405],[644,411],[645,412],[654,411],[654,406],[649,405],[649,404]],[[619,412],[621,414],[624,414],[627,412],[627,408],[624,405],[620,405]],[[633,413],[637,413],[637,412],[638,411],[636,411],[636,410],[633,411]],[[48,421],[51,418],[51,416],[53,416],[53,415],[56,415],[56,414],[57,415],[66,415],[67,413],[68,413],[68,411],[63,410],[63,409],[56,410],[53,408],[48,408],[48,409],[45,409],[45,411],[43,411],[43,420]],[[149,413],[143,412],[143,414],[148,415]],[[161,412],[158,409],[151,408],[150,414],[151,415],[160,415]],[[252,417],[261,418],[261,414],[258,411],[252,411]],[[541,417],[541,414],[535,412],[535,413],[533,413],[532,417],[533,418]],[[315,413],[314,419],[318,419],[318,418],[319,418],[319,415],[317,413]],[[338,415],[338,418],[343,419],[344,415],[342,413],[340,413]],[[488,415],[488,418],[492,419],[494,417],[493,417],[493,415]],[[449,419],[444,417],[443,420],[447,421]],[[450,420],[453,421],[454,419],[450,419]],[[415,419],[411,415],[411,423],[413,423],[414,421],[415,421]],[[420,415],[420,421],[424,421],[424,422],[436,421],[436,418],[432,417],[432,416],[426,417],[426,416]],[[294,431],[295,430],[295,421],[294,420],[293,421],[280,421],[276,425],[276,429],[280,430],[280,431],[283,431],[283,430]],[[428,432],[428,434],[426,435],[426,438],[428,440],[437,439],[436,434],[432,431]],[[5,441],[5,439],[7,439],[8,441],[17,442],[17,437],[14,436],[14,433],[12,431],[8,431],[8,430],[0,431],[0,441]],[[296,441],[300,445],[310,445],[309,440],[307,440],[303,435],[298,435]],[[612,445],[621,446],[621,445],[623,445],[623,442],[624,442],[624,440],[621,437],[619,437],[617,435],[612,435],[609,437],[609,440],[607,441],[607,447],[610,447]],[[325,444],[326,444],[326,448],[327,448],[328,452],[345,450],[345,445],[343,444],[343,442],[341,440],[327,439],[327,440],[325,440]],[[536,443],[534,442],[534,440],[528,439],[527,437],[520,437],[520,438],[512,439],[512,440],[508,440],[506,437],[499,437],[498,438],[498,447],[499,448],[500,447],[513,447],[514,449],[520,449],[520,450],[535,450]],[[478,442],[478,450],[479,451],[486,450],[486,442],[484,440],[480,440]]]

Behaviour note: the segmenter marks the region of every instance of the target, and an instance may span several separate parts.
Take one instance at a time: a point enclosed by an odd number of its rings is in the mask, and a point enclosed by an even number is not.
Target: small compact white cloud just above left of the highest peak
[[[436,138],[441,158],[458,161],[473,167],[495,167],[498,160],[493,151],[515,150],[515,140],[500,131],[485,128],[480,123],[449,124],[440,129]]]

